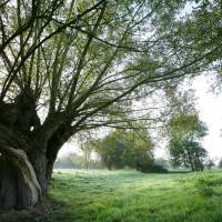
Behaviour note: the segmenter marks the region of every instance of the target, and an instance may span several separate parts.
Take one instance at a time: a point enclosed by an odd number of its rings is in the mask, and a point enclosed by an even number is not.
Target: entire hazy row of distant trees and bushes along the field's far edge
[[[167,172],[173,168],[203,171],[214,165],[201,144],[208,128],[196,112],[173,114],[164,130],[168,159],[154,158],[155,143],[144,125],[140,125],[140,130],[119,129],[101,139],[91,139],[81,145],[81,157],[72,154],[59,159],[56,168],[131,168],[142,172]],[[98,157],[92,159],[92,153]]]

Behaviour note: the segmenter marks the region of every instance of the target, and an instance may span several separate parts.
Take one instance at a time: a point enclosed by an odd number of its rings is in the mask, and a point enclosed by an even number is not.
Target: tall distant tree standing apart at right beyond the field
[[[171,118],[168,133],[170,138],[168,147],[173,165],[202,171],[208,152],[202,148],[200,140],[206,134],[206,127],[198,114],[181,113]]]

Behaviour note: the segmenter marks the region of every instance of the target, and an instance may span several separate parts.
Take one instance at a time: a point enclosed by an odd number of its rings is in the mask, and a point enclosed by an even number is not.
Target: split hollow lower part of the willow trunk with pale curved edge
[[[34,169],[22,150],[1,145],[0,205],[27,209],[41,200],[41,186]]]

